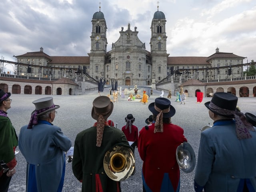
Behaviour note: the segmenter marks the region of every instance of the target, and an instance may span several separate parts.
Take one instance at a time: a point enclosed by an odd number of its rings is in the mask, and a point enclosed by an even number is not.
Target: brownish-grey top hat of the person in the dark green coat
[[[98,120],[98,117],[102,115],[106,120],[112,113],[114,104],[107,96],[98,96],[92,102],[92,118]]]

